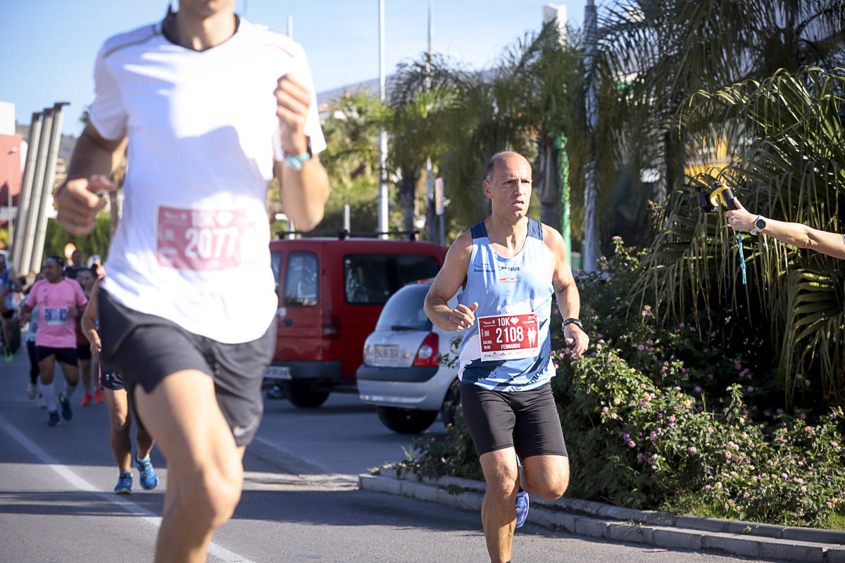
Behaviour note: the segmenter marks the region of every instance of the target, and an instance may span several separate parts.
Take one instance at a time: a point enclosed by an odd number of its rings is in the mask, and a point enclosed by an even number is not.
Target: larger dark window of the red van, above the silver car
[[[433,278],[440,265],[428,254],[346,254],[343,279],[346,302],[384,305],[403,285]]]

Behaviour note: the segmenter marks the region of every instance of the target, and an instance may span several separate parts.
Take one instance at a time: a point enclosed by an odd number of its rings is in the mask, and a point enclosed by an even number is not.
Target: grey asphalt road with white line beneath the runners
[[[161,486],[117,496],[106,406],[80,407],[74,420],[46,426],[46,411],[25,398],[27,360],[0,364],[0,561],[116,563],[152,560]],[[60,377],[57,377],[60,379]],[[443,431],[439,422],[435,431]],[[357,490],[352,475],[401,458],[411,440],[384,429],[353,395],[321,409],[268,400],[258,440],[247,449],[243,497],[215,533],[209,560],[486,561],[477,514]],[[530,517],[529,517],[530,521]],[[530,524],[515,539],[515,561],[721,563],[738,558],[610,544]]]

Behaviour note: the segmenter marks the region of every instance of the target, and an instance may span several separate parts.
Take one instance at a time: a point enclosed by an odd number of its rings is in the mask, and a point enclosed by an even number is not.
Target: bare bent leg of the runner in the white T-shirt
[[[211,535],[232,517],[243,465],[202,371],[177,371],[148,393],[135,388],[141,420],[167,459],[164,516],[155,561],[204,561]]]

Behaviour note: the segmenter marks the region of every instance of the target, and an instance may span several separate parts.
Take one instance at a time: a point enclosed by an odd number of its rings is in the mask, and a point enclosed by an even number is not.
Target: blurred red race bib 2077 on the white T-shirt
[[[160,266],[213,272],[253,263],[258,233],[246,209],[160,207],[155,256]]]

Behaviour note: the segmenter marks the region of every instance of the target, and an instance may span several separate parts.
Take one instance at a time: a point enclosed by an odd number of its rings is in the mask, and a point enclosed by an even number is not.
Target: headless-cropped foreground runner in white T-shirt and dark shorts
[[[240,498],[275,348],[265,209],[274,171],[301,229],[319,223],[329,194],[302,47],[234,6],[180,0],[177,14],[106,41],[90,124],[57,192],[59,224],[90,232],[128,138],[123,218],[99,299],[102,359],[126,377],[167,458],[156,561],[204,561]]]

